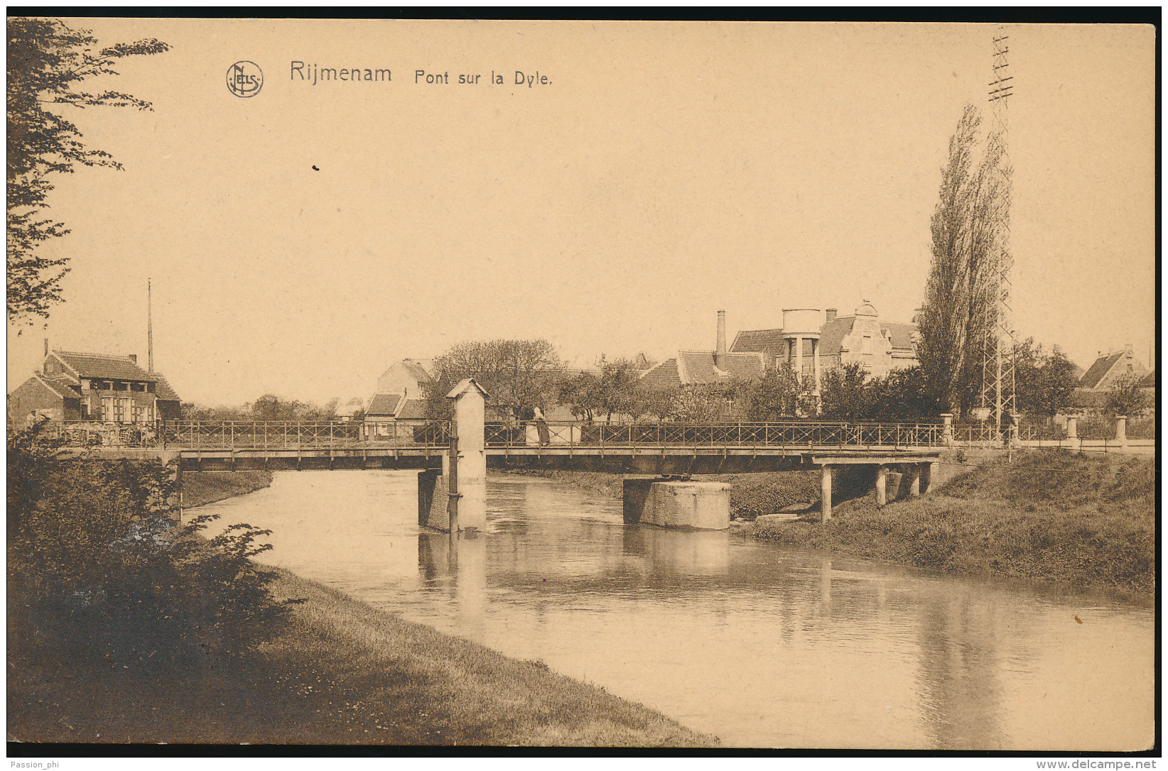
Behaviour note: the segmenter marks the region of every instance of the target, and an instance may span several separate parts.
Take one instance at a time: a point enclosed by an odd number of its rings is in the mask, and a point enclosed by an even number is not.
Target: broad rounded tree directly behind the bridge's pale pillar
[[[460,343],[434,359],[426,384],[426,415],[450,415],[446,394],[465,378],[474,378],[489,395],[487,404],[519,418],[545,408],[556,397],[563,364],[545,339],[496,339]]]

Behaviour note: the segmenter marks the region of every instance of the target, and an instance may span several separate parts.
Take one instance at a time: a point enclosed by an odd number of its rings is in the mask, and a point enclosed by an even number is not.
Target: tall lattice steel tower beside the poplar
[[[1006,415],[1015,415],[1014,383],[1014,323],[1010,309],[1010,273],[1014,257],[1010,254],[1010,156],[1009,156],[1009,97],[1013,94],[1014,77],[1009,73],[1009,36],[1001,30],[994,35],[993,80],[989,83],[990,131],[988,141],[1000,142],[1001,160],[995,173],[1002,180],[1004,205],[1001,210],[1001,232],[993,255],[992,281],[995,285],[996,302],[987,303],[993,314],[986,324],[986,339],[981,359],[981,407],[989,409],[990,425],[1000,426]]]

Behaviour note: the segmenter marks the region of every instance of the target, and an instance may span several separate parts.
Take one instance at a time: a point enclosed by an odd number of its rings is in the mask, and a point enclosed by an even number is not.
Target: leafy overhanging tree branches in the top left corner
[[[55,19],[8,17],[8,318],[32,324],[34,316],[48,318],[49,308],[62,301],[61,279],[68,258],[49,258],[37,247],[69,231],[44,219],[41,210],[53,184],[49,174],[72,173],[76,164],[121,164],[103,150],[82,143],[77,126],[44,105],[150,110],[126,93],[76,91],[88,78],[117,75],[112,64],[127,56],[161,54],[169,49],[158,40],[117,43],[95,50],[89,30],[71,29]]]

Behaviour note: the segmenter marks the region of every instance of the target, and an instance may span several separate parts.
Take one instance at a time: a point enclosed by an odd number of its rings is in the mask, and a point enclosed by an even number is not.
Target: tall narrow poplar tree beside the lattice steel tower
[[[1009,260],[1010,168],[996,134],[975,155],[980,124],[978,108],[966,105],[950,139],[919,323],[927,388],[946,412],[957,414],[967,413],[979,397],[981,357],[995,341],[999,274]]]

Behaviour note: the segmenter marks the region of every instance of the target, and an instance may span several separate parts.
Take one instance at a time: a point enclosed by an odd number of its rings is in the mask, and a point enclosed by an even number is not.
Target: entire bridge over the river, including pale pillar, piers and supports
[[[665,477],[818,468],[826,520],[840,468],[871,467],[877,503],[883,504],[890,469],[904,472],[909,495],[918,495],[952,442],[947,422],[487,423],[485,397],[474,380],[464,380],[449,395],[453,420],[394,427],[391,433],[378,429],[382,433],[371,436],[357,423],[174,422],[159,427],[152,441],[178,455],[180,472],[417,469],[419,523],[451,533],[486,527],[488,467],[623,474],[633,477],[625,481],[626,519],[640,520],[654,506],[669,507],[662,517],[672,524],[680,517],[682,525],[719,518],[729,523],[728,485],[687,483],[686,490],[670,488],[672,498],[653,503],[655,483]],[[711,491],[721,497],[709,516],[708,502],[702,502]]]

